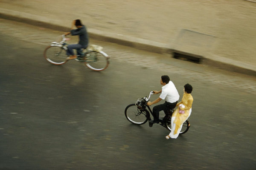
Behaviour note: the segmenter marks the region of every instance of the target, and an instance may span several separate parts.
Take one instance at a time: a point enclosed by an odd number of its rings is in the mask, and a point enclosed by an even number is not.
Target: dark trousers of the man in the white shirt
[[[165,114],[169,113],[169,110],[175,108],[175,106],[177,105],[177,102],[174,102],[174,103],[165,102],[161,105],[154,106],[153,113],[152,113],[152,116],[154,117],[154,121],[159,120],[159,112],[160,111],[164,111]]]

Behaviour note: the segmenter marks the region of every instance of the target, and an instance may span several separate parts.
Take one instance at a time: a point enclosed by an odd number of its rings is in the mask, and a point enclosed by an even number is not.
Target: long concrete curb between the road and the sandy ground
[[[14,20],[17,22],[27,23],[30,25],[40,26],[44,28],[55,29],[58,31],[64,31],[64,32],[70,31],[70,28],[66,26],[52,24],[52,23],[58,23],[55,20],[52,20],[46,17],[41,17],[34,14],[28,14],[24,12],[13,11],[13,10],[8,10],[3,8],[0,8],[0,18],[4,18],[7,20]],[[99,31],[99,30],[90,29],[90,28],[88,28],[88,34],[90,38],[95,40],[113,42],[116,44],[129,46],[139,50],[145,50],[145,51],[150,51],[150,52],[155,52],[160,54],[171,54],[172,56],[174,52],[177,52],[175,49],[169,48],[168,46],[170,45],[163,44],[160,42],[154,42],[154,41],[144,40],[140,38],[120,35],[120,34],[113,34],[113,33],[108,33],[108,32]],[[195,57],[195,55],[193,54],[191,55]],[[227,71],[238,72],[238,73],[247,74],[250,76],[256,76],[256,66],[254,65],[249,65],[242,62],[237,62],[232,59],[227,59],[227,58],[218,57],[218,56],[214,56],[214,57],[199,56],[199,57],[202,64],[210,65],[215,68],[220,68]]]

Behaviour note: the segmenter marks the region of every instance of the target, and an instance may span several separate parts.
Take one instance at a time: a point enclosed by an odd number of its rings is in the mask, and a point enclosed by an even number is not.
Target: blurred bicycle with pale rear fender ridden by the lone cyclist
[[[60,42],[52,42],[44,50],[44,58],[54,65],[63,65],[68,61],[66,55],[68,39],[65,35],[61,35],[61,37]],[[102,51],[102,47],[89,45],[88,48],[84,49],[82,55],[77,56],[75,60],[84,62],[93,71],[103,71],[108,67],[110,57]]]

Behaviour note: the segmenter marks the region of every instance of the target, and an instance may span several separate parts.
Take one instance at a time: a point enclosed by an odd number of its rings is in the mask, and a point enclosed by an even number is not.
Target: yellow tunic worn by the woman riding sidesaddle
[[[176,124],[174,134],[177,133],[177,130],[180,128],[183,122],[185,122],[186,119],[188,118],[189,109],[192,108],[192,103],[193,103],[193,97],[191,94],[187,94],[187,93],[184,93],[181,101],[177,103],[176,106],[179,106],[180,104],[185,105],[185,108],[181,108],[181,110],[185,111],[185,113],[183,114],[179,113],[179,108],[177,108],[172,114],[172,116],[176,117],[174,120],[174,123]]]

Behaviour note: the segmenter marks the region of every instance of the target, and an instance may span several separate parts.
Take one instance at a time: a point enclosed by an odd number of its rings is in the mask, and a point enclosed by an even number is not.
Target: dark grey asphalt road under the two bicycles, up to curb
[[[0,31],[1,170],[256,168],[255,77],[93,40],[111,57],[105,71],[56,66],[38,40],[60,33],[9,21]],[[194,87],[191,127],[169,140],[160,125],[124,116],[165,74],[180,96]]]

